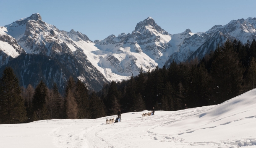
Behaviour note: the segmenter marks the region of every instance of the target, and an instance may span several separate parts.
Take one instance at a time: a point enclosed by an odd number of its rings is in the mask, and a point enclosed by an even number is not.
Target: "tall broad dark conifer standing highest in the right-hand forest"
[[[227,40],[224,47],[215,50],[212,63],[212,94],[216,98],[216,103],[222,103],[240,93],[243,72],[238,53],[234,51],[230,40]]]

